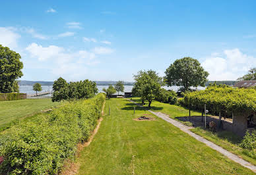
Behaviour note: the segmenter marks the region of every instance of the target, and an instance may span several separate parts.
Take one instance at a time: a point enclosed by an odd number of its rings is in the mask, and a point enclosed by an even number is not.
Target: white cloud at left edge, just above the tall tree
[[[20,35],[15,32],[15,28],[0,27],[0,44],[11,49],[17,47],[18,38]]]

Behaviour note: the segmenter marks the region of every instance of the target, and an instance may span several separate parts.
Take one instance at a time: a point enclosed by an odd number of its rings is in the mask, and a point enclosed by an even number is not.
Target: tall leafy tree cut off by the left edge
[[[18,53],[0,45],[0,92],[12,92],[13,83],[23,75],[23,63],[20,59]]]

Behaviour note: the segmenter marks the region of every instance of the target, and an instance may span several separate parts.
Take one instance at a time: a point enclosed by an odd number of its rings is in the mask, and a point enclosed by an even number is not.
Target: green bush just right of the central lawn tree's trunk
[[[174,105],[177,102],[177,93],[172,90],[168,91],[164,88],[161,88],[159,93],[156,95],[155,100],[162,103],[170,103],[171,105]]]

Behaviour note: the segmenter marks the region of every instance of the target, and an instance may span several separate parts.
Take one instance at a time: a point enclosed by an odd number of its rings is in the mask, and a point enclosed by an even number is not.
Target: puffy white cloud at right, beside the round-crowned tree
[[[211,56],[203,61],[209,80],[236,80],[256,64],[255,57],[241,53],[240,49],[227,49],[223,53],[224,57]]]

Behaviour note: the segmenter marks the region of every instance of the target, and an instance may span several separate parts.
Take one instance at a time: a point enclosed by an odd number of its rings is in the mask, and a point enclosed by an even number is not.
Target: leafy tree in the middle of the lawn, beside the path
[[[141,70],[134,76],[134,79],[135,85],[132,93],[141,97],[143,104],[144,100],[148,100],[148,107],[150,107],[152,100],[160,91],[161,84],[163,84],[162,78],[154,70]]]

